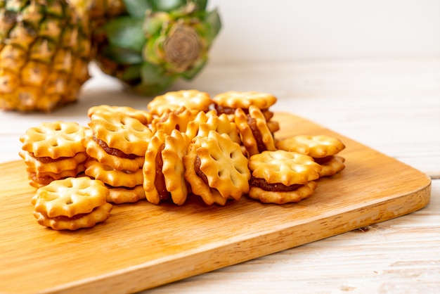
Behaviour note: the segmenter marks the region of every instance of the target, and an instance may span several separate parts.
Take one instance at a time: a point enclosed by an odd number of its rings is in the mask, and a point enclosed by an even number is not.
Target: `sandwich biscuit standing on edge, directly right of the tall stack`
[[[183,156],[189,140],[186,134],[176,129],[171,134],[157,131],[145,152],[143,165],[143,188],[150,203],[172,200],[182,205],[188,196],[183,174]]]

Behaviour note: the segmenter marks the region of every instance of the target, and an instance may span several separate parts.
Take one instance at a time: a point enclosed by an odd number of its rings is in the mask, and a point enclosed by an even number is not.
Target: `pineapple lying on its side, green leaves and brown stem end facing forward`
[[[103,37],[96,63],[103,72],[153,96],[202,70],[221,29],[219,13],[207,11],[207,0],[124,0],[124,6],[126,14],[96,27]]]

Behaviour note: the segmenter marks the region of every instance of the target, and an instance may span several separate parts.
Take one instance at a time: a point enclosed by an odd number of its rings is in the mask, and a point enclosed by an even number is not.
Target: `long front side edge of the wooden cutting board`
[[[208,248],[194,250],[189,255],[168,257],[167,260],[157,260],[154,263],[138,264],[122,271],[96,276],[93,280],[87,279],[60,285],[56,288],[47,289],[42,293],[95,293],[96,289],[100,289],[100,291],[105,293],[133,293],[140,290],[148,290],[174,281],[180,281],[190,276],[204,274],[264,255],[277,253],[306,243],[344,234],[354,229],[360,229],[408,215],[427,206],[430,198],[431,181],[429,179],[429,183],[418,191],[413,191],[396,198],[370,203],[370,205],[365,207],[340,212],[337,215],[316,219],[313,222],[289,229],[283,228],[264,235],[254,236],[253,238],[236,240],[233,243],[221,245],[220,247],[209,245]],[[402,201],[404,201],[405,205],[401,205]],[[319,229],[313,230],[313,227]],[[323,231],[325,234],[318,235],[314,234],[313,231]],[[261,245],[261,242],[264,242],[264,245]],[[252,250],[253,248],[257,248],[257,250]],[[214,261],[207,264],[204,262],[205,260]],[[191,264],[191,271],[187,269],[188,264]],[[152,270],[153,267],[155,270]],[[138,283],[133,281],[138,281]]]

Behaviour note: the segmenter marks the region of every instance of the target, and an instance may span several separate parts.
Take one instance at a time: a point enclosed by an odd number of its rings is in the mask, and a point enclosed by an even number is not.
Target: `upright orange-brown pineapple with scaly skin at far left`
[[[51,112],[89,79],[86,15],[65,0],[0,0],[0,108]]]

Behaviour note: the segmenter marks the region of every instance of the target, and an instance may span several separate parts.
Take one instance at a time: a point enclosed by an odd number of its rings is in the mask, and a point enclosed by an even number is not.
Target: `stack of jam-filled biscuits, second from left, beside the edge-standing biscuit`
[[[89,159],[84,173],[110,189],[108,202],[134,203],[145,198],[142,167],[153,135],[151,116],[133,108],[109,106],[89,110],[83,145]]]

